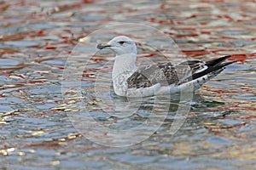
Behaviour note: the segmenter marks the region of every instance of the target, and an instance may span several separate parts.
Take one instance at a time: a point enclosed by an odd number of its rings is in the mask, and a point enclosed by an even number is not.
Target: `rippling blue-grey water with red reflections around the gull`
[[[254,169],[255,6],[253,1],[1,2],[0,167]],[[150,97],[138,105],[137,100],[113,94],[109,85],[113,55],[104,51],[90,59],[88,54],[95,48],[87,43],[97,40],[80,42],[102,26],[124,22],[164,31],[190,59],[232,54],[231,60],[240,62],[196,91],[188,114],[177,115],[179,95],[172,99]],[[141,31],[144,42],[155,38]],[[115,33],[99,38],[107,41]],[[162,48],[166,54],[173,53]],[[74,64],[73,77],[69,77],[73,88],[64,89],[67,94],[63,95],[63,73],[71,55],[76,56],[70,63]],[[149,61],[166,59],[150,47],[139,46],[138,62]],[[95,86],[102,91],[95,93]],[[137,127],[150,117],[154,122],[137,131],[109,135],[96,131],[97,126],[88,127],[92,124],[88,115],[79,115],[81,106],[98,124],[119,132]],[[113,111],[115,107],[121,112]],[[118,117],[122,114],[126,117]],[[156,128],[156,120],[163,118],[165,121]],[[83,124],[85,130],[81,131],[81,124],[73,124],[74,120],[89,124]],[[172,135],[170,129],[176,121],[183,126]],[[127,141],[130,146],[109,146]],[[103,142],[107,145],[99,144]]]

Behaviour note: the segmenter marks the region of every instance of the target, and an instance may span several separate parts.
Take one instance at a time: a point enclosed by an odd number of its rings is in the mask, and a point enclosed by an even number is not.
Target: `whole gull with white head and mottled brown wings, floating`
[[[136,65],[137,46],[130,37],[113,37],[96,48],[109,48],[115,54],[112,81],[114,93],[124,97],[146,97],[176,94],[192,89],[195,91],[212,77],[216,77],[225,66],[236,61],[224,62],[231,56],[208,61],[188,60],[177,65],[172,63]],[[192,87],[192,88],[191,88]]]

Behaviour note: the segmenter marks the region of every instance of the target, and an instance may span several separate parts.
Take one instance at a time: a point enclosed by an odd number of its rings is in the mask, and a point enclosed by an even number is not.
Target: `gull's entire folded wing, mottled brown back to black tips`
[[[217,75],[224,70],[226,65],[236,62],[223,63],[225,59],[229,58],[230,55],[206,62],[189,60],[175,66],[171,63],[141,66],[127,79],[128,88],[148,88],[157,83],[162,86],[180,85],[207,74]]]

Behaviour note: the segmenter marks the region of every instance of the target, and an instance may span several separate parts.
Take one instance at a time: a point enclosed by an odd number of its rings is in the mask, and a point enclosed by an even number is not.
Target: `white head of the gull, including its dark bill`
[[[137,54],[136,43],[125,36],[114,37],[108,43],[99,43],[97,48],[110,48],[116,55]]]

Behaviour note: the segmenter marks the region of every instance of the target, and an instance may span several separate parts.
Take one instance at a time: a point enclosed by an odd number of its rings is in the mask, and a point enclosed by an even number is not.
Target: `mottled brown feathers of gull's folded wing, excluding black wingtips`
[[[175,66],[171,63],[141,66],[127,79],[128,88],[148,88],[157,83],[168,86],[189,82],[192,79],[191,74],[200,70],[201,65],[201,61],[191,60]]]

